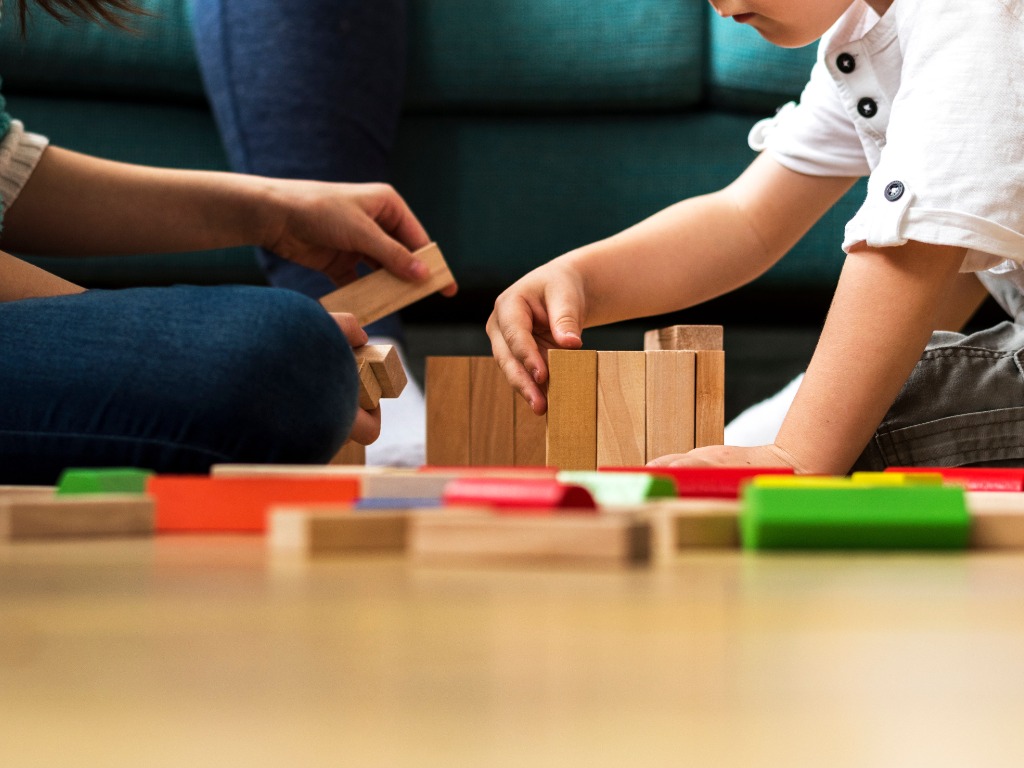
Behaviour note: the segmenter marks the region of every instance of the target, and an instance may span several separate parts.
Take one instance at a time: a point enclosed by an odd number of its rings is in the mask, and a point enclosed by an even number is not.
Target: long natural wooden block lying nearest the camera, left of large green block
[[[409,554],[452,565],[612,566],[646,563],[650,523],[633,515],[415,515]]]

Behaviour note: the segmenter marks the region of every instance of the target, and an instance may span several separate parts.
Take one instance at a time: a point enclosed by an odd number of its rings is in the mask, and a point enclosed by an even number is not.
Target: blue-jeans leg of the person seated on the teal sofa
[[[406,0],[197,0],[200,70],[237,171],[384,181],[406,85]],[[274,286],[318,298],[324,274],[259,250]],[[400,337],[397,317],[367,329]]]

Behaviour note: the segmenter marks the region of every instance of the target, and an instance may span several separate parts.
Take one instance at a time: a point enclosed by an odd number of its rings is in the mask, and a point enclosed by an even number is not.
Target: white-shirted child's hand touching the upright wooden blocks
[[[562,260],[538,267],[495,301],[486,326],[490,349],[534,413],[548,407],[542,390],[548,380],[547,351],[583,346],[585,315],[583,279]]]

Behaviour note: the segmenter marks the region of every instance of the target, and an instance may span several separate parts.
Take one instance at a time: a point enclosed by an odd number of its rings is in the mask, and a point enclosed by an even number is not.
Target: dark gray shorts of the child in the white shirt
[[[855,470],[1024,466],[1024,295],[979,278],[1013,322],[933,334]]]

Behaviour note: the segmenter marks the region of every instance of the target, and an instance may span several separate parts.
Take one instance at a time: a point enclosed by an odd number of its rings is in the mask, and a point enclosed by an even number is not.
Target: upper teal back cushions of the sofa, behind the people
[[[194,0],[142,0],[126,35],[36,9],[27,40],[0,25],[8,92],[202,99]],[[796,97],[813,46],[782,50],[707,0],[410,0],[408,102],[427,112],[687,110],[764,113]]]

